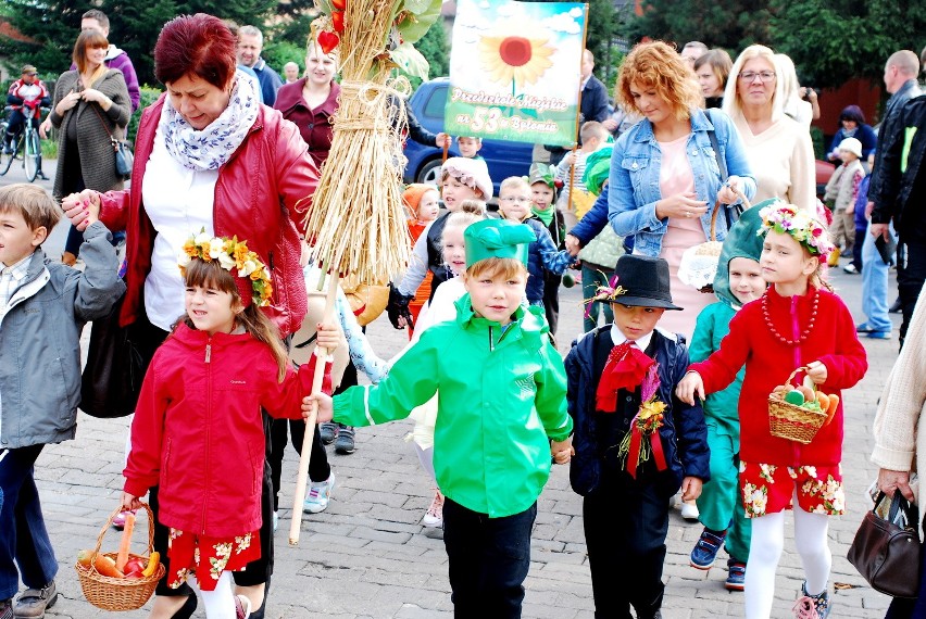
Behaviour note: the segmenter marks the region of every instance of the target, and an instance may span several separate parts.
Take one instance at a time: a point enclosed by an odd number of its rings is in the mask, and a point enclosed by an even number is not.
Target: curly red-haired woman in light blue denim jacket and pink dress
[[[668,262],[673,299],[684,307],[661,325],[690,339],[698,313],[714,301],[678,280],[681,254],[710,240],[716,204],[737,204],[755,180],[730,119],[700,109],[700,88],[678,53],[662,41],[635,47],[617,84],[622,103],[643,115],[614,144],[608,217],[614,231],[634,237],[634,253]],[[711,146],[715,134],[718,153]],[[724,181],[718,160],[728,173]],[[725,209],[726,206],[719,206]],[[725,213],[716,220],[716,240],[727,231]]]

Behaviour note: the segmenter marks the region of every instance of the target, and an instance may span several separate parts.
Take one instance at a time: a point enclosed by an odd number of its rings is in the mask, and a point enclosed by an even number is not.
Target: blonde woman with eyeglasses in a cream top
[[[785,84],[777,66],[765,46],[746,48],[730,71],[723,111],[733,118],[755,172],[754,202],[780,198],[815,216],[810,131],[785,114]]]

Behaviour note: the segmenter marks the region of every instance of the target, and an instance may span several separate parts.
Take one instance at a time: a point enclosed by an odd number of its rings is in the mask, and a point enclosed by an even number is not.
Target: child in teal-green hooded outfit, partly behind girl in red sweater
[[[760,299],[766,282],[762,279],[759,257],[762,253],[761,206],[747,210],[727,233],[714,276],[714,293],[719,301],[698,315],[689,355],[691,363],[704,361],[721,348],[729,332],[729,323],[747,303]],[[729,559],[725,583],[729,591],[742,591],[746,559],[749,557],[751,527],[742,507],[737,481],[739,473],[739,391],[744,369],[723,391],[712,393],[704,402],[708,444],[711,447],[711,480],[698,497],[701,538],[691,551],[690,565],[709,570],[722,545]],[[726,542],[726,544],[725,544]]]

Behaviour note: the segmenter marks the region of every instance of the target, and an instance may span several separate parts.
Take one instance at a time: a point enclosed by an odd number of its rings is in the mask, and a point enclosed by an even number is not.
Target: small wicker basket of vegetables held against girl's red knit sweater
[[[838,395],[827,395],[816,384],[792,384],[794,377],[806,367],[799,367],[784,384],[768,395],[768,426],[773,437],[808,444],[833,420],[839,405]]]

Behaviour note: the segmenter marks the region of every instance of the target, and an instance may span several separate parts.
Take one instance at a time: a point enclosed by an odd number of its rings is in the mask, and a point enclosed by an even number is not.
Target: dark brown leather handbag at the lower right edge
[[[875,508],[865,514],[847,558],[875,591],[915,598],[921,567],[917,510],[894,492],[885,519],[878,513],[885,498],[884,492],[878,493]]]

